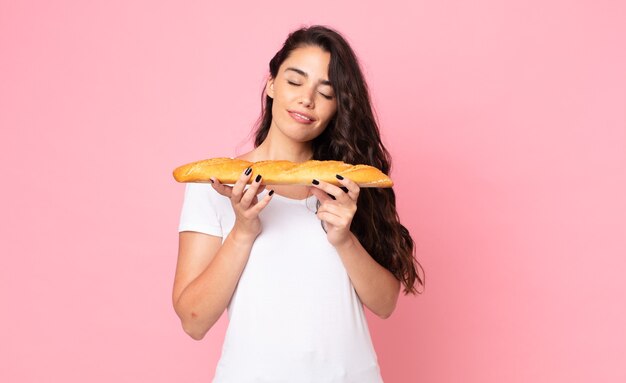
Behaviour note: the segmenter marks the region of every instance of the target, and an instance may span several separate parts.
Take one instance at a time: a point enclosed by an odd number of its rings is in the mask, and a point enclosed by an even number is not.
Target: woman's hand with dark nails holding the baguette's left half
[[[246,174],[248,170],[249,173]],[[272,199],[272,191],[266,194],[261,201],[258,200],[257,194],[265,190],[265,185],[261,183],[262,176],[260,174],[252,181],[250,187],[244,190],[252,175],[250,168],[246,171],[241,174],[234,186],[223,185],[215,177],[211,177],[211,180],[213,181],[213,188],[221,195],[230,198],[233,205],[236,218],[232,231],[242,239],[254,240],[261,233],[259,213]]]

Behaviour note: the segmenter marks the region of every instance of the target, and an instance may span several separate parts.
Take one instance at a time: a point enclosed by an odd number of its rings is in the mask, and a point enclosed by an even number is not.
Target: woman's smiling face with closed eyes
[[[330,53],[317,46],[304,46],[278,68],[267,82],[273,99],[272,125],[299,142],[319,136],[337,111],[337,99],[328,81]]]

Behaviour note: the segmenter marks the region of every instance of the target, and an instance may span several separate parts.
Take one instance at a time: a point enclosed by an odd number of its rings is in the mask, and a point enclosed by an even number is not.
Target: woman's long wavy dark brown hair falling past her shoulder
[[[330,53],[328,76],[337,97],[335,116],[312,142],[312,159],[366,164],[390,174],[391,156],[381,141],[358,59],[336,30],[314,25],[290,33],[270,61],[272,78],[276,78],[280,65],[289,54],[302,46],[317,46]],[[271,97],[262,94],[262,112],[253,133],[255,148],[263,143],[269,132],[272,102]],[[317,204],[319,208],[320,202]],[[361,188],[357,206],[350,230],[361,245],[402,282],[405,295],[421,293],[415,284],[424,287],[425,276],[418,273],[422,268],[413,255],[415,242],[400,223],[393,188]]]

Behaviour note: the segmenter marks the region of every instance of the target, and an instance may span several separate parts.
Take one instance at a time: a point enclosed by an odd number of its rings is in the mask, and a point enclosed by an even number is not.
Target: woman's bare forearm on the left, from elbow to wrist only
[[[181,293],[176,312],[192,338],[202,339],[226,309],[253,243],[231,231],[211,263]]]

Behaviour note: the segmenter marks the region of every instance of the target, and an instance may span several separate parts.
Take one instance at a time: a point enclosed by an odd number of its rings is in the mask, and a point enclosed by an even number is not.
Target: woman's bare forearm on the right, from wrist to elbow
[[[389,317],[398,300],[400,281],[369,255],[354,234],[336,249],[361,302],[379,317]]]

